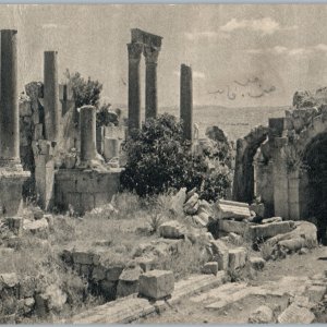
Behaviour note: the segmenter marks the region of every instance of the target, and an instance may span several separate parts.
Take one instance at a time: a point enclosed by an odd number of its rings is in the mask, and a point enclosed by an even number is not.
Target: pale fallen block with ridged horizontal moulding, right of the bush
[[[217,202],[217,218],[228,219],[234,218],[237,220],[243,220],[251,217],[247,203],[233,202],[227,199],[219,199]]]

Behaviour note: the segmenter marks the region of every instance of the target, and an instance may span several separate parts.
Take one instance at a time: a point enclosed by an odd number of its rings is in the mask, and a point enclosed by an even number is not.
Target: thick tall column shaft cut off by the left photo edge
[[[16,38],[17,31],[1,31],[0,160],[4,166],[21,162]]]

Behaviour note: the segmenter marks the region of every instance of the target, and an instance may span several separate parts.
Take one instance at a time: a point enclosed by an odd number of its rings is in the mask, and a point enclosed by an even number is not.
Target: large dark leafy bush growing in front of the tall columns
[[[173,116],[165,113],[146,121],[141,131],[133,131],[125,152],[128,164],[121,183],[140,196],[197,187],[202,198],[215,201],[225,196],[230,186],[230,171],[223,158],[193,154]]]

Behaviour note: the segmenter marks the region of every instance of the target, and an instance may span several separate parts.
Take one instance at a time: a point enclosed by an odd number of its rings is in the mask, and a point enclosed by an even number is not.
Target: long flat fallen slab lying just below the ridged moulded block
[[[267,239],[278,234],[288,233],[293,230],[293,221],[280,221],[264,225],[252,225],[249,226],[246,237],[251,240],[255,239]]]

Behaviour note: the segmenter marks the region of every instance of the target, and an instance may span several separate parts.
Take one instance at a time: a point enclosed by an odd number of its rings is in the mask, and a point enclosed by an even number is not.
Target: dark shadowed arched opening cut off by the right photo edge
[[[306,147],[303,158],[306,170],[306,204],[308,217],[318,229],[318,241],[327,245],[327,133],[317,135]]]

